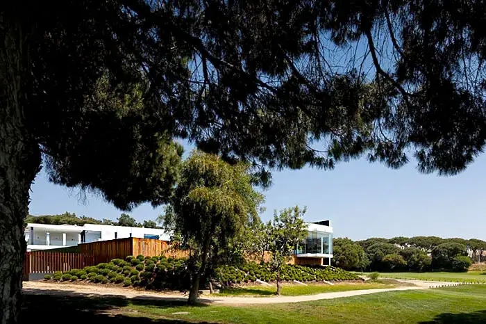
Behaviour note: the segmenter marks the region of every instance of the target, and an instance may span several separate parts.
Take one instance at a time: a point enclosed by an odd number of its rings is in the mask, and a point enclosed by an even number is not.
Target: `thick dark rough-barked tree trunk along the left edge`
[[[40,150],[26,119],[28,29],[0,10],[0,323],[19,321],[24,218],[28,190],[40,170]]]

